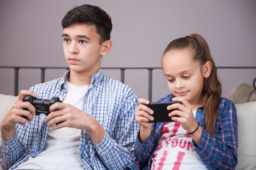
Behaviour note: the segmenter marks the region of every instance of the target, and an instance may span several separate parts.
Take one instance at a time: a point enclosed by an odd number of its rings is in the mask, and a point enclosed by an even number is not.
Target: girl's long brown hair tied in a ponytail
[[[202,66],[207,61],[211,62],[211,73],[208,78],[204,78],[201,97],[204,108],[204,129],[213,136],[219,112],[220,96],[222,93],[222,86],[218,79],[216,65],[211,57],[207,42],[197,33],[192,33],[189,36],[178,38],[170,42],[166,47],[163,56],[168,51],[182,49],[191,49],[194,51],[193,60],[200,63],[201,71]]]

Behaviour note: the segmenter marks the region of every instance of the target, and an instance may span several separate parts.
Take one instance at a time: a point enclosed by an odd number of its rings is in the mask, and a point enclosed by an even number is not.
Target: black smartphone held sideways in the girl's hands
[[[168,116],[169,113],[171,113],[173,110],[167,110],[167,106],[175,103],[180,103],[182,102],[151,102],[150,104],[144,104],[148,108],[154,111],[154,114],[151,115],[154,117],[153,121],[149,121],[150,123],[153,122],[171,122],[173,121],[171,117]]]

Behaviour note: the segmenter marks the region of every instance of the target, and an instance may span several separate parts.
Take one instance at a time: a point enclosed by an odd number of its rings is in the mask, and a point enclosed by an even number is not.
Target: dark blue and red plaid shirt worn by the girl
[[[170,102],[174,95],[170,94],[157,102]],[[220,99],[220,110],[217,117],[214,137],[204,130],[204,110],[199,107],[195,120],[202,127],[200,145],[194,141],[193,150],[198,153],[203,163],[209,170],[234,170],[237,164],[238,124],[236,107],[229,99]],[[136,161],[130,163],[126,170],[150,170],[151,159],[157,148],[160,132],[164,123],[154,123],[150,137],[141,144],[135,141]]]

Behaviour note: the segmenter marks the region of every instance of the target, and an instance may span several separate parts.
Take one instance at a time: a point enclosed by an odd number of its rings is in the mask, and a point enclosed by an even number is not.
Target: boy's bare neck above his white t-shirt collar
[[[92,81],[92,75],[94,75],[94,73],[70,71],[70,76],[67,78],[67,81],[75,86],[87,86]]]

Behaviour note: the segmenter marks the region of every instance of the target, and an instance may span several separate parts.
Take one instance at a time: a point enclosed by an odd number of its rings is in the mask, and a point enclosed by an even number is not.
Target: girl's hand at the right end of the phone
[[[173,121],[180,122],[182,128],[188,132],[193,132],[197,128],[198,123],[195,121],[191,105],[182,97],[173,97],[172,100],[173,102],[182,102],[182,104],[172,104],[168,106],[168,110],[178,109],[173,110],[168,116],[171,117]],[[179,117],[173,117],[175,115]]]

